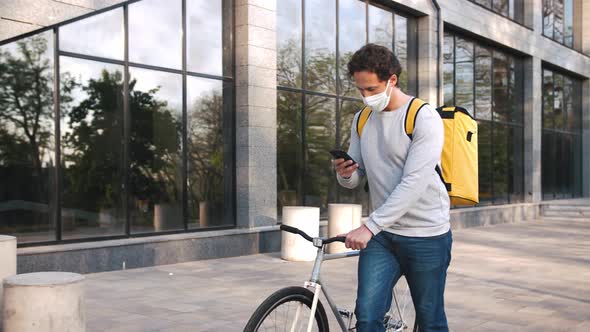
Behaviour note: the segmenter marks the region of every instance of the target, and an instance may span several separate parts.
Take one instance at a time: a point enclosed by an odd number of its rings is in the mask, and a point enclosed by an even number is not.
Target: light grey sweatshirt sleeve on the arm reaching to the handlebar
[[[435,167],[440,163],[444,143],[442,119],[430,105],[416,117],[412,142],[403,168],[401,182],[377,208],[365,225],[373,234],[395,224],[424,195]]]

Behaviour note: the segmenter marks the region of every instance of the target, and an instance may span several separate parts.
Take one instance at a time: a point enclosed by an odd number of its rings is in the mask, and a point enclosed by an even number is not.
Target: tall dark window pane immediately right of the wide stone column
[[[283,206],[301,205],[303,156],[301,94],[277,91],[277,200]]]

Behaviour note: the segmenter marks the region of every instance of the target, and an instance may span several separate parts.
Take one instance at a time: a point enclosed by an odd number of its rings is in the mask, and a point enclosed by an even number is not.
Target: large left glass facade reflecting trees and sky
[[[0,233],[231,227],[233,1],[131,1],[0,46]]]

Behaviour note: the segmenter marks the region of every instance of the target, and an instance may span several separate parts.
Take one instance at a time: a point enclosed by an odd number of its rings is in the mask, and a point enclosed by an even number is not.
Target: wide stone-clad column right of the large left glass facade
[[[236,0],[236,224],[276,224],[276,0]]]

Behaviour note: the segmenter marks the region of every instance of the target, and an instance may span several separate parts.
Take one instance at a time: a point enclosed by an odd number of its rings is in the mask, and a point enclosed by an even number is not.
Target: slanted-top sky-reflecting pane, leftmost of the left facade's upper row
[[[123,8],[59,28],[62,51],[123,60]]]

